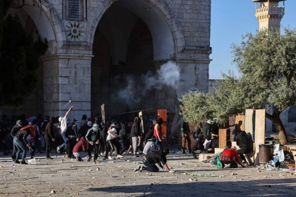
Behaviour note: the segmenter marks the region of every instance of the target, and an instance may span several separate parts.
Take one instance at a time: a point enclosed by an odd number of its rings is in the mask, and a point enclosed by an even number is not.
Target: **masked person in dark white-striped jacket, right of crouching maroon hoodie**
[[[100,139],[100,129],[98,124],[93,124],[93,127],[88,129],[86,133],[87,142],[87,152],[88,152],[88,162],[92,159],[91,148],[94,148],[93,162],[98,163],[98,152],[99,152],[99,139]]]

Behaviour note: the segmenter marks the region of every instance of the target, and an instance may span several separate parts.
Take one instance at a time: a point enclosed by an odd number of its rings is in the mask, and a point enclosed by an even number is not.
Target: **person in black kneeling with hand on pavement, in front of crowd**
[[[150,171],[150,172],[158,172],[159,168],[155,165],[156,163],[164,170],[174,173],[171,171],[166,164],[166,155],[169,154],[169,149],[161,149],[160,151],[150,152],[143,158],[144,166],[138,166],[134,169],[135,171]]]

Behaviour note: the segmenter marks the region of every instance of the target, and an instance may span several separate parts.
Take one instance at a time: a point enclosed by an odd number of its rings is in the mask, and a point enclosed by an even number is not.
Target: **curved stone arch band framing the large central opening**
[[[88,43],[90,46],[93,46],[93,40],[94,35],[96,32],[96,29],[98,27],[98,23],[100,19],[102,18],[103,14],[106,12],[106,10],[114,3],[118,2],[121,6],[126,7],[127,9],[131,10],[135,14],[137,14],[140,18],[143,19],[143,21],[146,22],[147,26],[149,27],[152,37],[153,37],[153,44],[154,44],[154,54],[155,54],[155,60],[161,60],[161,59],[170,59],[168,55],[168,51],[165,48],[170,48],[168,45],[170,45],[169,36],[166,36],[165,33],[169,30],[172,36],[172,54],[176,54],[182,49],[184,49],[185,41],[184,41],[184,35],[183,31],[176,20],[174,14],[169,10],[169,8],[159,0],[131,0],[131,1],[122,1],[122,0],[107,0],[103,3],[103,6],[98,12],[94,15],[93,21],[91,22],[90,26],[90,33],[88,35]],[[159,15],[164,19],[165,25],[161,20],[158,20],[160,18],[157,18],[157,16],[150,14],[149,17],[153,16],[156,18],[152,18],[147,20],[145,17],[145,13],[141,13],[140,10],[136,9],[137,5],[136,3],[144,3],[146,5],[150,5],[151,7],[148,7],[148,11],[157,11]],[[146,19],[146,20],[145,20]],[[159,46],[159,47],[158,47]],[[166,53],[166,54],[163,54]],[[162,58],[166,57],[166,58]]]

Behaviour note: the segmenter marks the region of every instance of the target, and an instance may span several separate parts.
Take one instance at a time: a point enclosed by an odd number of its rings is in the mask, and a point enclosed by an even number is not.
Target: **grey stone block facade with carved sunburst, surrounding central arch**
[[[160,62],[173,60],[181,70],[175,90],[158,96],[161,104],[174,111],[176,95],[181,97],[190,87],[208,92],[211,0],[79,0],[83,12],[79,11],[82,16],[76,21],[66,19],[68,1],[42,2],[41,8],[28,6],[24,11],[41,36],[50,41],[42,59],[44,115],[64,115],[69,100],[74,106],[72,118],[91,115],[93,40],[100,19],[113,4],[134,13],[149,28],[155,68]],[[109,48],[112,54],[112,45]]]

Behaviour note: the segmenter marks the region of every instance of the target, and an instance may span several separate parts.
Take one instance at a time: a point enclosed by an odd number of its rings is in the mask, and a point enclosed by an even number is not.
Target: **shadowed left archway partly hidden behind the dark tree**
[[[32,2],[30,2],[32,4]],[[42,8],[32,7],[25,5],[22,8],[11,7],[8,10],[10,15],[18,15],[21,22],[21,26],[25,32],[33,37],[33,40],[37,40],[38,36],[44,37],[48,40],[49,48],[46,52],[47,55],[57,53],[57,39],[55,32],[57,29],[61,29],[59,23],[56,25],[52,24],[57,20],[55,15],[52,15],[53,10],[47,3],[43,4]],[[47,9],[47,12],[44,9]],[[50,15],[50,16],[48,16]],[[62,36],[60,36],[62,38]],[[26,114],[27,117],[36,116],[37,114],[43,114],[44,111],[44,72],[43,72],[43,61],[40,59],[40,66],[36,71],[37,84],[32,89],[31,94],[26,99],[26,103],[23,107],[17,110],[3,109],[2,113],[7,115],[19,115]],[[45,96],[46,97],[46,96]]]

